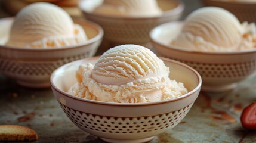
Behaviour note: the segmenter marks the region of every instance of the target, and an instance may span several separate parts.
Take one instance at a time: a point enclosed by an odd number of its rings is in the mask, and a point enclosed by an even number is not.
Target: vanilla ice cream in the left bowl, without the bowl
[[[8,46],[55,48],[87,40],[84,29],[56,5],[37,2],[24,7],[11,27]]]

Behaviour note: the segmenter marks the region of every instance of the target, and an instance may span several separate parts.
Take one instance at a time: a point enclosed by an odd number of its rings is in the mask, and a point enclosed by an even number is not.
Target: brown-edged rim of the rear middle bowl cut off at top
[[[84,0],[84,1],[88,1],[88,0]],[[174,1],[177,2],[177,4],[178,4],[177,7],[172,8],[171,10],[164,11],[161,15],[152,16],[152,17],[122,17],[122,16],[95,14],[93,12],[92,13],[87,13],[86,11],[84,11],[84,8],[82,7],[82,2],[79,2],[78,7],[83,13],[90,14],[94,17],[123,19],[123,20],[145,20],[145,19],[165,18],[165,17],[169,17],[169,16],[172,16],[172,15],[183,13],[184,8],[185,8],[185,5],[184,5],[183,1],[181,1],[181,0],[174,0]]]

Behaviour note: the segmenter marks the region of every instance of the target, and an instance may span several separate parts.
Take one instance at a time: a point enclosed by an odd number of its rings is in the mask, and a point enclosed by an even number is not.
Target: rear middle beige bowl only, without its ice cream
[[[110,45],[122,45],[132,43],[143,45],[150,41],[150,30],[162,23],[178,20],[184,10],[181,1],[158,0],[159,7],[164,13],[155,17],[114,17],[94,14],[92,11],[97,7],[97,2],[101,0],[83,0],[79,7],[88,20],[94,21],[103,27],[106,39]]]

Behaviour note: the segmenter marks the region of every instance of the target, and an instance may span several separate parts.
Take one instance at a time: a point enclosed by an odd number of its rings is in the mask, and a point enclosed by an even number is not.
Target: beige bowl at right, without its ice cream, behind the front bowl
[[[204,91],[227,91],[254,73],[256,49],[238,52],[195,52],[189,48],[171,46],[172,39],[180,33],[182,22],[171,22],[155,27],[150,32],[152,43],[162,57],[181,61],[201,75]]]

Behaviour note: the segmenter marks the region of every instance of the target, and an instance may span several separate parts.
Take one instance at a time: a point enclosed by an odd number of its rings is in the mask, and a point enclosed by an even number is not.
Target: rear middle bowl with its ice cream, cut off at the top
[[[144,45],[153,27],[178,20],[184,10],[183,2],[174,0],[84,0],[79,7],[85,18],[103,27],[110,45]]]

